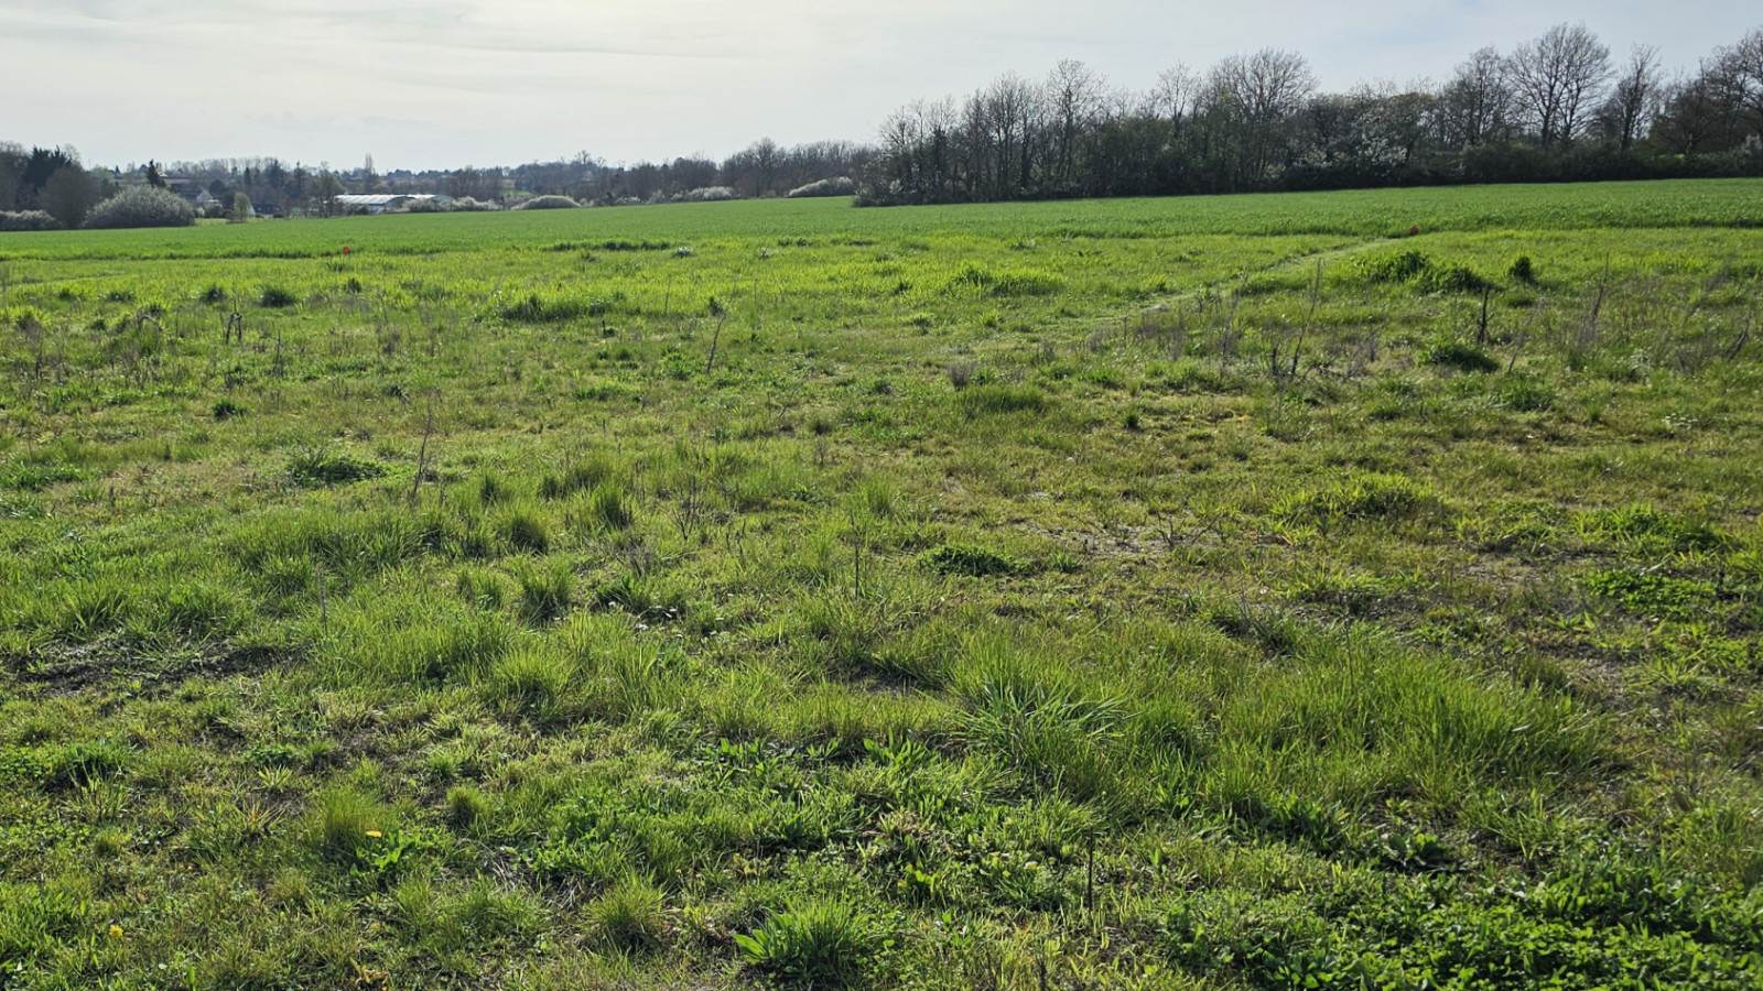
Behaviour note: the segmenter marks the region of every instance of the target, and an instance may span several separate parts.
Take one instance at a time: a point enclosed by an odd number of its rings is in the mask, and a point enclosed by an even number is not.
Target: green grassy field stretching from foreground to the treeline
[[[0,235],[0,989],[1756,987],[1759,227]]]

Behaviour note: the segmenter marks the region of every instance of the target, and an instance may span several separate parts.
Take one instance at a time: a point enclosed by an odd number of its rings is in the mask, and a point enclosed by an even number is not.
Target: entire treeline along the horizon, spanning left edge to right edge
[[[1583,25],[1509,53],[1483,48],[1442,85],[1319,92],[1301,55],[1262,49],[1206,72],[1178,67],[1142,93],[1081,62],[1003,76],[963,101],[917,101],[874,146],[755,141],[714,160],[566,160],[381,175],[279,159],[88,169],[72,148],[0,143],[0,229],[78,227],[136,185],[206,215],[326,215],[342,192],[444,192],[460,208],[536,196],[587,205],[859,192],[859,203],[1578,182],[1763,175],[1763,28],[1668,72],[1655,48],[1624,60]],[[852,180],[860,180],[855,187]]]

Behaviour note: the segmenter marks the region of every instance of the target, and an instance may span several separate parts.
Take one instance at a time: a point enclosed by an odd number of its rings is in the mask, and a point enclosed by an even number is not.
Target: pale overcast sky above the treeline
[[[867,141],[915,97],[1079,58],[1149,88],[1259,48],[1324,88],[1446,78],[1585,21],[1694,69],[1763,26],[1717,0],[0,0],[0,141],[86,164],[275,155],[381,171]]]

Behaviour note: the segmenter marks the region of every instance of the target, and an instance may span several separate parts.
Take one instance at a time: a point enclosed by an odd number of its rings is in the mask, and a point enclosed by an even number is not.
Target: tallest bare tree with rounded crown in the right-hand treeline
[[[1537,141],[1569,145],[1610,78],[1610,49],[1585,25],[1555,25],[1513,51],[1507,76]]]

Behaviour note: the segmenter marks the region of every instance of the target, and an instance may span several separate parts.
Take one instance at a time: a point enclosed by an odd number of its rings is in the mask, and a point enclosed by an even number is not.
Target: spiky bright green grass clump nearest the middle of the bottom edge
[[[790,984],[846,987],[869,970],[880,936],[850,905],[811,901],[772,915],[749,936],[735,935],[749,965]]]

